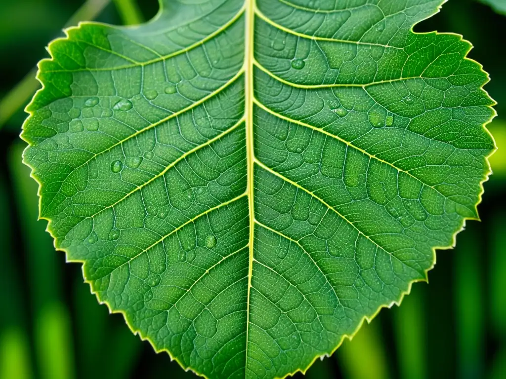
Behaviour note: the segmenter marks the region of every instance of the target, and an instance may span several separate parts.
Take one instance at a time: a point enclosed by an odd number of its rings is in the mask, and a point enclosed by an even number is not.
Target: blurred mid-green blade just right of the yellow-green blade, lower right
[[[427,377],[427,315],[422,283],[413,285],[411,294],[393,309],[394,332],[400,376],[403,379]]]

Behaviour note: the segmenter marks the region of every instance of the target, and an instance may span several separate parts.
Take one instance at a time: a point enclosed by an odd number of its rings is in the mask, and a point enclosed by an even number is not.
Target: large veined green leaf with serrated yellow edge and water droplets
[[[50,44],[25,162],[56,247],[157,351],[283,377],[477,218],[494,102],[441,0],[165,0]]]

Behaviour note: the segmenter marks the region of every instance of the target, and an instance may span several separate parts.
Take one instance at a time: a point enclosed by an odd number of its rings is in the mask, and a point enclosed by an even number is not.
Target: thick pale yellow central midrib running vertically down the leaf
[[[248,293],[246,306],[246,347],[244,374],[247,369],[248,357],[248,335],[249,335],[249,303],[251,297],[251,276],[253,272],[253,242],[255,231],[255,208],[254,208],[254,145],[253,145],[253,64],[254,64],[254,27],[255,27],[255,1],[244,0],[245,4],[245,27],[244,27],[244,116],[246,128],[246,166],[247,166],[247,186],[249,208],[249,268],[248,268]]]

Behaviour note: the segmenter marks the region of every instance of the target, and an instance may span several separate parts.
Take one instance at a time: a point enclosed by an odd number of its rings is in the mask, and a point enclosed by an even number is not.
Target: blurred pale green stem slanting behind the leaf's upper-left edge
[[[83,4],[64,27],[77,25],[80,21],[93,20],[97,17],[110,0],[88,0]],[[0,100],[0,129],[20,108],[28,104],[40,83],[35,79],[37,69],[34,68]]]

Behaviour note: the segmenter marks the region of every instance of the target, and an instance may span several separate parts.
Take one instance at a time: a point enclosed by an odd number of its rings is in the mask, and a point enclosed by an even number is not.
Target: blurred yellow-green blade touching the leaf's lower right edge
[[[338,349],[339,364],[346,379],[391,378],[385,343],[379,330],[379,320],[363,326],[350,341],[346,339]]]

